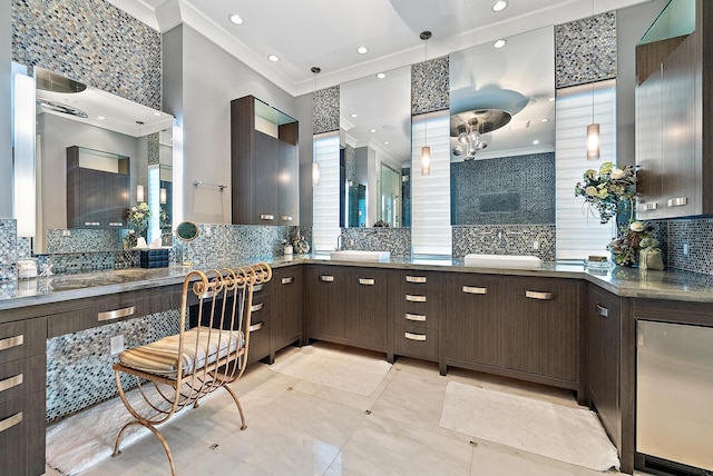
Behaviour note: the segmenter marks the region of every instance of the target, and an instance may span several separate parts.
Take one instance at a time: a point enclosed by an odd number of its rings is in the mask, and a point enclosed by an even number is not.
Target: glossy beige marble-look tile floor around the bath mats
[[[354,354],[383,355],[316,344]],[[291,347],[277,361],[297,353]],[[447,377],[431,363],[400,358],[368,396],[251,366],[235,384],[247,419],[241,432],[226,393],[162,427],[179,475],[463,475],[567,476],[600,473],[471,438],[439,427],[448,381],[574,406],[568,390],[461,369]],[[81,476],[166,475],[168,462],[149,435]],[[607,474],[618,474],[611,472]],[[642,473],[637,473],[642,474]],[[49,469],[46,476],[59,473]]]

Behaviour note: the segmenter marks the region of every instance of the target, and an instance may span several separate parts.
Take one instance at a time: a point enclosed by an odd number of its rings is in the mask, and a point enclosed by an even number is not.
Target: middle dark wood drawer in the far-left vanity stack
[[[45,353],[0,364],[0,404],[45,391],[47,358]]]

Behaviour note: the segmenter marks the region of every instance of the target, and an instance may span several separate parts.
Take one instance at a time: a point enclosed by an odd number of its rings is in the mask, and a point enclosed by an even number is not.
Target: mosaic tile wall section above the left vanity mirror
[[[12,59],[160,109],[160,33],[104,0],[11,0]]]

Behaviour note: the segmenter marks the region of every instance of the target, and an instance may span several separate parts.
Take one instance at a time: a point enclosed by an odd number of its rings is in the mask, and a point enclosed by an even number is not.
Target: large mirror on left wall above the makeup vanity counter
[[[159,229],[169,230],[174,118],[41,68],[35,68],[35,252],[119,249],[120,230],[128,228],[126,207],[141,201],[152,209],[153,237]],[[68,180],[71,160],[88,171],[78,179],[84,182],[80,194],[75,191],[74,179]],[[107,173],[92,179],[95,171],[109,172],[113,184]],[[86,208],[82,212],[88,215],[72,219],[68,214],[72,206]],[[94,218],[109,208],[119,216],[106,224]],[[87,229],[96,232],[86,234]]]

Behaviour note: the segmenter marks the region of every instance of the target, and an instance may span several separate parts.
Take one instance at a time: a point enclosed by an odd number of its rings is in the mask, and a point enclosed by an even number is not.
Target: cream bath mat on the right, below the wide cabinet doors
[[[594,470],[619,467],[597,416],[584,408],[450,381],[440,426]]]

